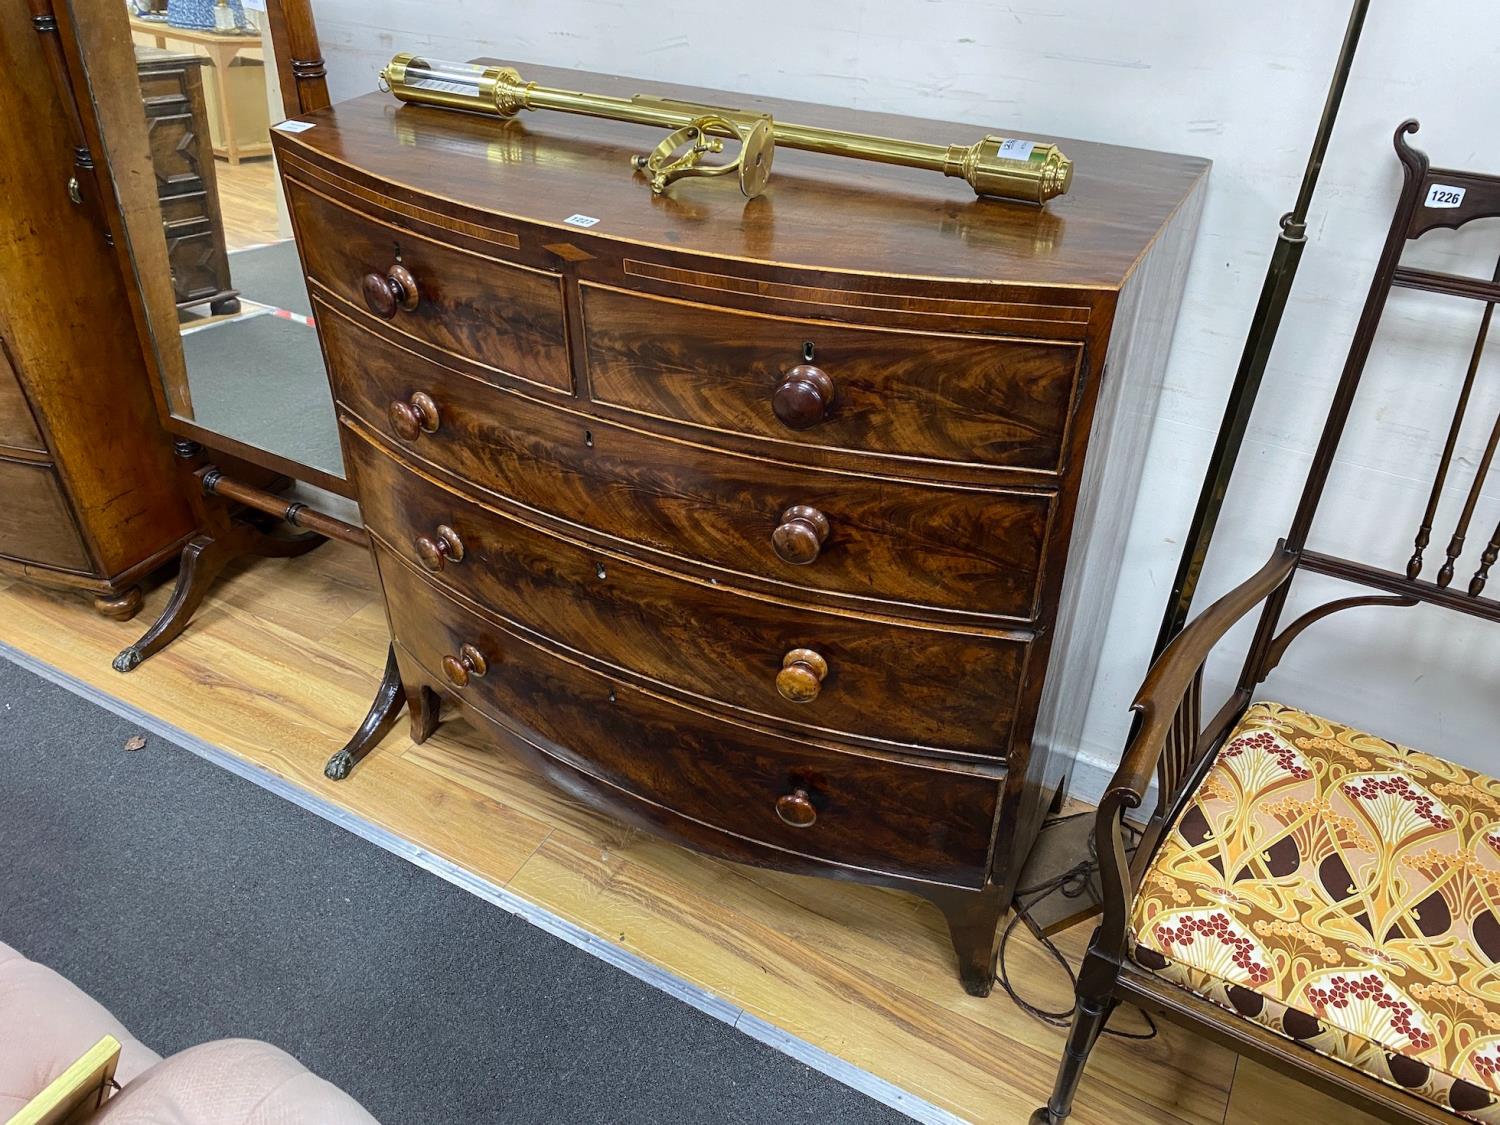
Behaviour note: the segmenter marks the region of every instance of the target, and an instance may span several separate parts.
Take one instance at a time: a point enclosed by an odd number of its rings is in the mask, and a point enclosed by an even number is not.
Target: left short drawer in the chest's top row
[[[360,309],[370,308],[366,285],[384,285],[388,303],[372,315],[386,315],[400,332],[572,393],[558,274],[446,246],[332,202],[294,180],[286,180],[286,200],[314,282]],[[400,278],[405,284],[393,280]],[[392,286],[398,296],[390,296]]]

